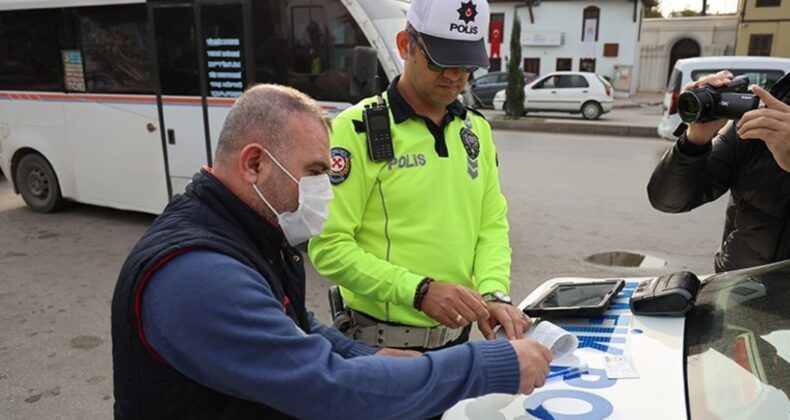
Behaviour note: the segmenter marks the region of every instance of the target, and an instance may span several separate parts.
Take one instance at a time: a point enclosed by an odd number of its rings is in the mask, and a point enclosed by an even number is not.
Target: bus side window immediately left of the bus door
[[[145,5],[77,9],[85,85],[95,93],[153,93]]]

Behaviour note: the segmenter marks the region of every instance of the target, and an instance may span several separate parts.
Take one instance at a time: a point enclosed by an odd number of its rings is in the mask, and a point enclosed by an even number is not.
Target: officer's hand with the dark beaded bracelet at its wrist
[[[434,281],[428,286],[420,310],[450,328],[465,327],[490,316],[480,294],[464,286],[441,281]]]

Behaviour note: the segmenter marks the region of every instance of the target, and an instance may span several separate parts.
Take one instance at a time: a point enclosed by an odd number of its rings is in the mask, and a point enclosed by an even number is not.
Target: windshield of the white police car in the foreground
[[[790,260],[712,276],[686,318],[692,419],[787,418]]]

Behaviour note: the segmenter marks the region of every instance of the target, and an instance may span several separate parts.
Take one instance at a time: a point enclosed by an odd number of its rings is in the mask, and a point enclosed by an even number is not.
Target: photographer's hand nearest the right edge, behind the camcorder
[[[790,105],[759,86],[752,85],[752,92],[762,99],[765,108],[743,114],[738,135],[742,139],[762,139],[779,167],[790,172]]]

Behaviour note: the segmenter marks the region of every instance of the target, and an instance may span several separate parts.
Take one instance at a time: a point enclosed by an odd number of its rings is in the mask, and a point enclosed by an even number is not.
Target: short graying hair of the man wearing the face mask
[[[214,160],[227,163],[244,146],[257,142],[272,153],[290,146],[289,117],[302,114],[327,126],[321,106],[304,93],[281,85],[260,84],[247,89],[231,107],[219,134]]]

